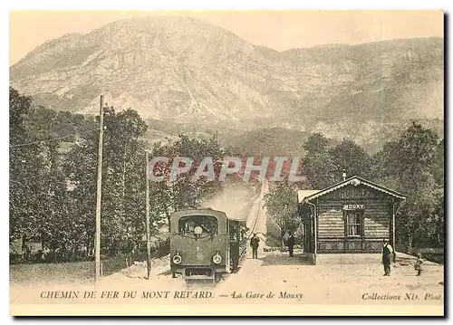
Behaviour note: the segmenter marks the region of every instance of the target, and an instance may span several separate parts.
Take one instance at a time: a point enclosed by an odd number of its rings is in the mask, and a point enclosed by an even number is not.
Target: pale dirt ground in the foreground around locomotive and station
[[[92,304],[272,303],[294,306],[398,306],[443,303],[443,285],[439,284],[444,281],[442,265],[429,263],[425,267],[425,273],[417,277],[412,265],[397,263],[394,264],[391,276],[384,277],[379,255],[376,255],[375,263],[310,265],[300,252],[295,253],[294,258],[289,258],[287,253],[259,253],[257,260],[248,255],[238,272],[229,274],[217,285],[201,282],[188,284],[180,278],[172,279],[168,271],[169,259],[160,259],[154,261],[152,278],[149,281],[144,279],[145,267],[139,265],[133,266],[128,272],[119,272],[102,279],[97,288],[93,283],[13,285],[10,296],[14,304],[84,304],[89,301]],[[96,299],[83,298],[84,292],[94,290],[97,291]],[[64,294],[62,292],[78,292],[78,297],[56,299],[49,296],[52,292],[53,295],[60,296]],[[117,292],[116,297],[114,292]],[[209,299],[194,297],[196,292],[204,292],[202,294],[207,294]],[[136,294],[135,298],[129,298],[131,294]],[[188,294],[188,297],[181,298],[181,294]]]

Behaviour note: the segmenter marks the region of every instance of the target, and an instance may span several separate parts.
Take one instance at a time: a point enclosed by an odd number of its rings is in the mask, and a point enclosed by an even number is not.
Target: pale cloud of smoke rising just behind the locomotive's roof
[[[255,186],[226,183],[221,193],[204,201],[202,206],[223,211],[230,219],[246,221],[255,196]]]

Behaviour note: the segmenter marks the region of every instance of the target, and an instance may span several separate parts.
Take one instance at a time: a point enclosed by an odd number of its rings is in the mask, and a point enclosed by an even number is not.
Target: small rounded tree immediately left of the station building
[[[275,223],[280,227],[280,240],[283,246],[284,234],[295,232],[300,225],[297,215],[297,194],[295,188],[288,184],[280,184],[265,195],[265,207]]]

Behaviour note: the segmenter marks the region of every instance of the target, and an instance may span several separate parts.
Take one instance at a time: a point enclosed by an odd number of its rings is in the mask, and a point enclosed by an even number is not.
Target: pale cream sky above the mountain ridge
[[[10,65],[65,33],[90,33],[134,16],[177,14],[216,24],[248,43],[277,51],[327,43],[443,37],[441,11],[15,11],[10,13]]]

